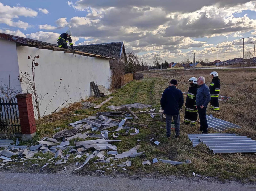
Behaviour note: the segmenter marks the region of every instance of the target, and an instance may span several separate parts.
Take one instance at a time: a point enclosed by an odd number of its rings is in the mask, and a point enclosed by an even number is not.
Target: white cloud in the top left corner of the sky
[[[28,23],[20,20],[17,22],[13,21],[13,18],[18,19],[20,16],[36,17],[37,12],[30,8],[10,7],[0,3],[0,23],[7,24],[10,27],[18,27],[26,30],[29,27]]]

